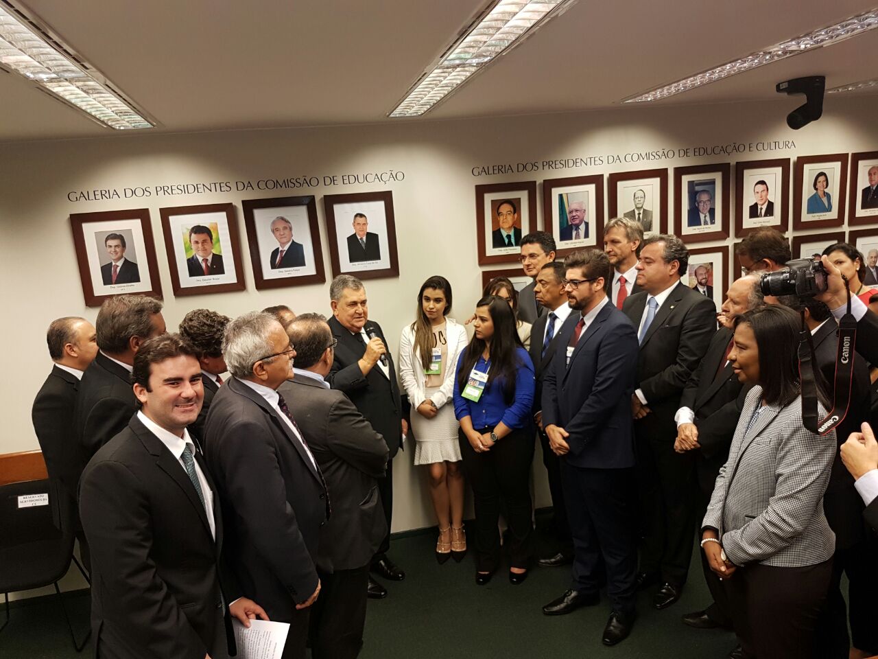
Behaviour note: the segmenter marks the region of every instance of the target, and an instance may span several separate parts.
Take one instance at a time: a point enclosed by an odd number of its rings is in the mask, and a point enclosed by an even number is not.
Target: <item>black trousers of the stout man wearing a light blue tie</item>
[[[692,561],[694,455],[674,452],[673,420],[668,426],[651,416],[635,423],[640,571],[681,586]]]

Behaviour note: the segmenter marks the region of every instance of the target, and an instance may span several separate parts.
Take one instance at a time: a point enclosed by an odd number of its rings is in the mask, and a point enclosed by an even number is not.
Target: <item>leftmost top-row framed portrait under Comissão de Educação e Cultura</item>
[[[536,230],[536,181],[476,185],[479,265],[514,263]]]

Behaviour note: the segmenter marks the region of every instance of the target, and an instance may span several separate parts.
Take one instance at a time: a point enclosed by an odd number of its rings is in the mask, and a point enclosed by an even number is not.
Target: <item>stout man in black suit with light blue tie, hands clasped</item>
[[[637,484],[642,535],[638,583],[660,583],[652,605],[664,609],[680,598],[692,559],[694,456],[673,450],[673,416],[689,376],[716,333],[714,302],[680,281],[689,251],[674,235],[644,240],[637,262],[643,291],[623,304],[637,329],[637,388],[631,396],[637,442]]]

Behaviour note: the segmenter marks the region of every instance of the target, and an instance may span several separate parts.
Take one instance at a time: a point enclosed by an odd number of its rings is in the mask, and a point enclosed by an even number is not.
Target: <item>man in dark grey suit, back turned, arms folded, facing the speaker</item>
[[[310,621],[314,659],[356,657],[363,646],[369,565],[387,532],[378,481],[387,445],[354,403],[323,378],[336,340],[326,318],[296,316],[286,328],[296,346],[294,377],[277,391],[288,401],[332,496],[332,517],[320,528],[320,597]]]

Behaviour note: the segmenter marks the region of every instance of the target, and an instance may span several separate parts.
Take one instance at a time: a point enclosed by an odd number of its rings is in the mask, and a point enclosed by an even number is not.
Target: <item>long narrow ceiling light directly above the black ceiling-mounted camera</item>
[[[663,87],[647,91],[644,94],[637,94],[635,96],[630,96],[629,98],[623,98],[623,103],[644,103],[647,101],[657,101],[661,98],[668,98],[669,96],[680,94],[683,91],[689,91],[695,87],[700,87],[702,84],[713,83],[716,82],[716,80],[722,80],[723,78],[734,76],[738,73],[749,71],[750,69],[756,69],[765,64],[785,60],[793,55],[807,53],[814,48],[831,46],[839,41],[850,39],[857,34],[872,30],[875,27],[878,27],[878,10],[869,11],[865,14],[860,14],[860,16],[848,18],[836,25],[822,27],[812,33],[803,34],[801,37],[783,41],[782,43],[760,50],[758,53],[742,57],[740,60],[726,62],[725,64],[721,64],[713,69],[702,71],[694,76],[678,80],[675,83],[666,84]]]

